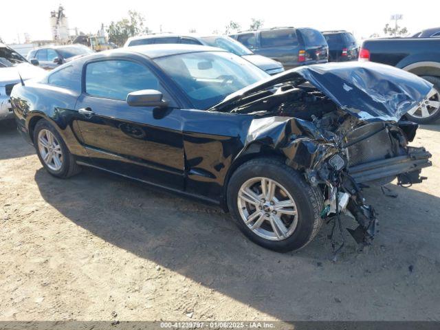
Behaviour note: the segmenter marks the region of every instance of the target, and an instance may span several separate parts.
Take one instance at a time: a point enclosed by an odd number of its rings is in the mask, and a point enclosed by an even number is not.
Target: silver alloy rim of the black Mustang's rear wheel
[[[61,145],[56,140],[54,133],[47,129],[42,129],[38,136],[38,146],[43,162],[51,170],[61,170],[63,166],[63,151]]]

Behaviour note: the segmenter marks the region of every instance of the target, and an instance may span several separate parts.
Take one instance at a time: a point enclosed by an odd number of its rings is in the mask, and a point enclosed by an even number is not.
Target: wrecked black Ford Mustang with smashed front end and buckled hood
[[[366,185],[420,182],[430,154],[408,146],[405,113],[432,89],[374,63],[267,76],[222,50],[148,45],[67,63],[16,85],[12,107],[43,166],[93,166],[229,210],[252,241],[297,250],[340,212],[373,239]]]

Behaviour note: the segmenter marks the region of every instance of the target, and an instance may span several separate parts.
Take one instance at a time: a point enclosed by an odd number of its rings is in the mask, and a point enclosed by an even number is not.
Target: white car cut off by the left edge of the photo
[[[38,61],[30,64],[26,59],[7,45],[0,43],[0,120],[13,118],[10,104],[12,87],[23,80],[41,76],[44,71],[39,67]]]

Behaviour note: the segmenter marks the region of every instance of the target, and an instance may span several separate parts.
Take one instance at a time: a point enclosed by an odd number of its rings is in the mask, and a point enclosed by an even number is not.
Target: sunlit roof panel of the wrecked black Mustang
[[[221,48],[202,46],[202,45],[187,45],[183,43],[158,43],[153,45],[139,45],[119,48],[116,50],[108,50],[106,52],[101,52],[100,54],[111,54],[118,52],[128,52],[128,53],[140,53],[149,58],[158,58],[163,56],[178,55],[178,54],[188,54],[197,52],[226,52]]]

